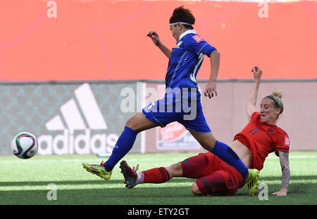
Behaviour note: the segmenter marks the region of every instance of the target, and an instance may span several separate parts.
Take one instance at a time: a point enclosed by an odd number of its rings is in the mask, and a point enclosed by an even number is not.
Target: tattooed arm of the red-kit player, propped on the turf
[[[290,164],[288,161],[287,152],[278,152],[280,157],[280,167],[282,168],[282,185],[280,191],[272,193],[276,196],[285,196],[287,195],[287,187],[290,183]]]

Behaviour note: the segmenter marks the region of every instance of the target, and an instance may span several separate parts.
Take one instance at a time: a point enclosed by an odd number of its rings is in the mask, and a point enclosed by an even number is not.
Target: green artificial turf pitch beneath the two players
[[[128,154],[130,166],[139,164],[139,171],[169,166],[197,153]],[[0,157],[0,204],[103,204],[103,205],[316,205],[317,152],[291,152],[291,181],[287,197],[274,197],[280,190],[280,162],[270,154],[260,173],[259,183],[268,188],[268,200],[261,200],[263,188],[254,197],[242,187],[233,197],[194,197],[194,179],[173,178],[163,184],[142,184],[125,188],[117,165],[111,180],[105,182],[82,168],[82,162],[99,164],[95,155],[35,156],[23,160],[14,156]],[[104,158],[106,160],[106,158]],[[56,200],[49,200],[49,184],[56,185]],[[53,197],[54,198],[54,197]]]

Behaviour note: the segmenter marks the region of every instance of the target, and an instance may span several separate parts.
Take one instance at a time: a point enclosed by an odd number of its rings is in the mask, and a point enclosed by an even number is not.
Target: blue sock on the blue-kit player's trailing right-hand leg
[[[242,175],[244,180],[248,178],[249,171],[247,166],[242,163],[240,157],[237,156],[231,147],[217,140],[215,146],[213,146],[213,150],[211,150],[211,153],[215,154],[230,166],[233,166]]]

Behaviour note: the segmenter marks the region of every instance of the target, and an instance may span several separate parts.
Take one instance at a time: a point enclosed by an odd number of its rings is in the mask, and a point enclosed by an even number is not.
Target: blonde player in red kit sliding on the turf
[[[253,67],[252,72],[255,83],[246,105],[249,124],[235,135],[230,147],[245,166],[256,168],[259,171],[263,168],[268,154],[275,152],[280,157],[282,185],[280,191],[273,195],[283,196],[287,194],[287,186],[290,181],[288,161],[290,139],[282,128],[276,126],[276,122],[284,110],[282,95],[279,91],[273,91],[271,95],[261,100],[260,112],[256,112],[256,98],[262,71],[259,67]],[[233,195],[245,184],[242,175],[235,168],[211,152],[189,157],[166,168],[152,168],[140,173],[136,173],[134,168],[130,168],[126,161],[120,163],[120,168],[128,188],[141,183],[165,183],[174,177],[197,178],[192,184],[192,193],[213,196]],[[249,190],[250,196],[254,193],[255,190]]]

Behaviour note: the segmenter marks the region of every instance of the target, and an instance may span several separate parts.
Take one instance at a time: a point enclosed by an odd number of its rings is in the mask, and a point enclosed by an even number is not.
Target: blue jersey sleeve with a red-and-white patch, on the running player
[[[203,53],[204,55],[208,56],[210,56],[210,54],[216,50],[215,47],[204,41],[204,39],[202,39],[201,36],[197,34],[188,37],[185,43],[185,48],[196,53],[197,55],[199,53]]]

